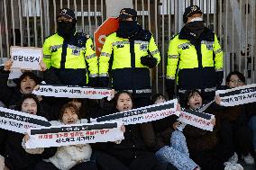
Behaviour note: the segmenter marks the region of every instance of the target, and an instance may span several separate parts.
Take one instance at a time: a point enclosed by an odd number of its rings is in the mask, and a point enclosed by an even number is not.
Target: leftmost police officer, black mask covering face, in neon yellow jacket
[[[61,9],[57,32],[44,41],[43,61],[47,67],[44,79],[49,84],[96,85],[98,64],[93,41],[88,35],[76,32],[76,23],[72,10]]]

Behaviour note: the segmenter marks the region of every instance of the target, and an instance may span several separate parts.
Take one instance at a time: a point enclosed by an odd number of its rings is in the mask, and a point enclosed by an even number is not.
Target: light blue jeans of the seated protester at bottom
[[[186,138],[182,132],[175,130],[171,134],[170,146],[160,148],[156,157],[161,162],[168,162],[180,170],[192,170],[197,164],[189,158]]]

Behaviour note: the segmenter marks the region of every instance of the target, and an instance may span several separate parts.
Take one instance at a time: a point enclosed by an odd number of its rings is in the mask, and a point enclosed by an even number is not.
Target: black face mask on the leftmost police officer
[[[57,31],[60,36],[63,38],[67,38],[70,35],[73,35],[76,31],[76,22],[64,22],[64,21],[59,21],[57,22]]]

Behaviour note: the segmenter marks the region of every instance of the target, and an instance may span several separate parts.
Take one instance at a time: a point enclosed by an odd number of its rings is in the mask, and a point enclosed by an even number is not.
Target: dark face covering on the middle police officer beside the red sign
[[[139,28],[136,21],[119,21],[119,28],[116,33],[118,37],[129,39],[139,31]]]

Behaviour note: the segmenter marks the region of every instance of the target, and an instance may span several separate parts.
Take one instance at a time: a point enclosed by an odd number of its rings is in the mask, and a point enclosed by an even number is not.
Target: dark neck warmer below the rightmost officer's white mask
[[[190,35],[198,39],[203,31],[205,31],[206,26],[204,21],[202,22],[188,22],[185,25],[186,29],[190,32]]]

